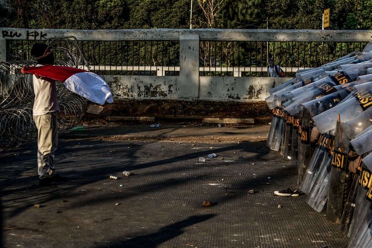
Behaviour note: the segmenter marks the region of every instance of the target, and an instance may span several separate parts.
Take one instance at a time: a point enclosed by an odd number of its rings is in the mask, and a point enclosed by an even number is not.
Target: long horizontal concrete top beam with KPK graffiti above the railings
[[[84,41],[178,40],[197,35],[200,40],[227,41],[371,41],[372,30],[276,30],[276,29],[20,29],[0,27],[0,40],[46,40],[74,36]]]

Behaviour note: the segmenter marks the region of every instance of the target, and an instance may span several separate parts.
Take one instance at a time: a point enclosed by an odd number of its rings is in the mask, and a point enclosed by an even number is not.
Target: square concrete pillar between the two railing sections
[[[192,101],[199,97],[199,35],[180,36],[179,99]]]

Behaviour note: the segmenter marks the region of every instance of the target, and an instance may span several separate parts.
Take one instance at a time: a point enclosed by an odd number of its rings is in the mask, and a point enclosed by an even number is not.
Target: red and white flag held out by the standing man
[[[23,67],[22,72],[61,81],[70,91],[100,105],[114,102],[109,85],[93,72],[60,65]]]

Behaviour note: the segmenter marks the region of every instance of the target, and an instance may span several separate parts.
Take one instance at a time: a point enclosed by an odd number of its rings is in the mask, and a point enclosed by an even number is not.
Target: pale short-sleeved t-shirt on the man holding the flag
[[[36,66],[43,65],[38,64]],[[35,92],[33,116],[61,111],[57,100],[56,80],[36,75],[33,75],[32,79]]]

